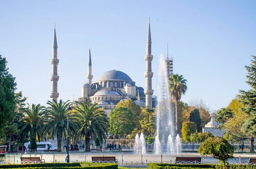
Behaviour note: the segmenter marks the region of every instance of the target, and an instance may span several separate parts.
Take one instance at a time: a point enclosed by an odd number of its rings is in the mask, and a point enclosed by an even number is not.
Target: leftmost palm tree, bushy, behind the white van
[[[21,113],[19,115],[22,118],[20,119],[20,125],[18,126],[18,128],[20,129],[20,135],[23,140],[30,133],[30,140],[32,139],[33,135],[34,137],[37,135],[38,141],[40,141],[41,133],[39,132],[39,129],[43,125],[43,108],[44,106],[41,106],[40,104],[32,104],[32,106],[28,104],[28,107],[20,108]],[[33,133],[32,131],[35,131],[35,133]]]

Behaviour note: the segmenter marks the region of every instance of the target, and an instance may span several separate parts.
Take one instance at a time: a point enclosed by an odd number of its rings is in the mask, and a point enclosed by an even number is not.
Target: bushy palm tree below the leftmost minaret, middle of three
[[[57,136],[57,145],[58,152],[61,152],[61,140],[62,137],[67,137],[67,107],[70,106],[68,103],[60,100],[57,103],[56,100],[53,102],[48,101],[47,104],[49,107],[44,109],[44,114],[46,116],[44,120],[44,126],[41,128],[42,134],[44,137],[48,137],[54,139]],[[76,133],[76,129],[78,128],[78,123],[73,120],[73,115],[70,115],[70,131],[73,135]]]

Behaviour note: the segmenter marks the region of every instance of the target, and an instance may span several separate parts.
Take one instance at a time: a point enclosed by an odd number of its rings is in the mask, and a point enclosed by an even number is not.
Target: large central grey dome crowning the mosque
[[[108,72],[103,73],[97,81],[102,80],[125,80],[125,81],[132,81],[131,77],[129,77],[124,72],[118,71],[118,70],[111,70]]]

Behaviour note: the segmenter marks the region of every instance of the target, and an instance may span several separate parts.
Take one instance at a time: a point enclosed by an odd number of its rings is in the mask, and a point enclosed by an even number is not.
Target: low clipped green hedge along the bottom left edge
[[[2,169],[117,169],[116,163],[26,163],[0,165]]]

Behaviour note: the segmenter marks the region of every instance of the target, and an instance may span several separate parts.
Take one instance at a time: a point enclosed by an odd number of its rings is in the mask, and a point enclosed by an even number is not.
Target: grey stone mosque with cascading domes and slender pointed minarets
[[[137,105],[145,108],[148,107],[152,109],[157,104],[157,98],[153,95],[152,90],[152,77],[153,72],[151,70],[151,62],[153,60],[153,55],[151,55],[151,31],[150,31],[150,20],[148,20],[148,35],[146,44],[146,72],[145,72],[145,89],[140,86],[136,86],[131,77],[129,77],[124,72],[119,70],[110,70],[103,73],[92,83],[92,57],[89,47],[89,57],[88,57],[88,67],[87,67],[87,82],[82,86],[81,97],[79,97],[74,104],[77,102],[86,103],[90,100],[90,103],[98,103],[98,106],[104,107],[105,112],[109,113],[116,107],[117,103],[124,100],[133,100]],[[52,90],[50,97],[55,100],[58,99],[58,73],[57,66],[59,60],[57,58],[57,38],[56,31],[54,28],[53,37],[53,49],[52,49]],[[170,69],[172,67],[172,61],[169,61],[168,57],[166,60],[166,68]]]

